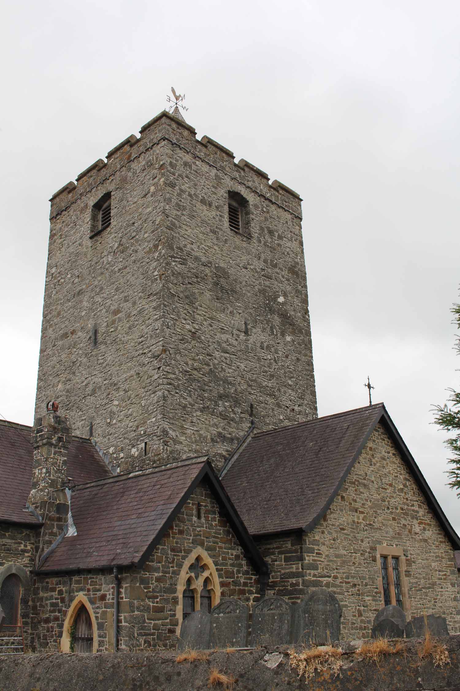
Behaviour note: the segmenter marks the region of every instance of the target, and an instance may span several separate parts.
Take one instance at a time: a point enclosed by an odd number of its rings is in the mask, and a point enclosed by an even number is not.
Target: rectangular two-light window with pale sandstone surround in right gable
[[[406,558],[401,547],[379,545],[377,547],[379,568],[379,592],[381,606],[397,605],[406,615],[410,614],[408,583],[406,580]]]

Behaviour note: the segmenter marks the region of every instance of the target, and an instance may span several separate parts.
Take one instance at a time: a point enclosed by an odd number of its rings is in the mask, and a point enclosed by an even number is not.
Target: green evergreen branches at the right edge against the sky
[[[452,323],[460,330],[460,304],[454,303],[450,311],[454,314]],[[460,336],[457,336],[454,349],[460,354]],[[446,432],[454,433],[454,436],[445,442],[452,454],[448,460],[451,468],[446,471],[450,478],[447,484],[457,490],[457,497],[460,498],[460,392],[453,388],[447,390],[450,392],[447,403],[434,407],[434,423]]]

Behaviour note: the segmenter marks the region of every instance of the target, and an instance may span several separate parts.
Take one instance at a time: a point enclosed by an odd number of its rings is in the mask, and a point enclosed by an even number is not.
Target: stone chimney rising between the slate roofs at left
[[[69,513],[65,485],[72,428],[66,417],[58,415],[58,408],[56,401],[49,401],[32,430],[34,464],[28,504],[45,524],[42,545],[46,549],[61,534]]]

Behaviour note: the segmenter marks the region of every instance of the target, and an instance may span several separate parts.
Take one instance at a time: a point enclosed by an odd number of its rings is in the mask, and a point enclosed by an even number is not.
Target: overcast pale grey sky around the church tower
[[[0,414],[32,424],[48,199],[159,113],[303,197],[319,415],[384,401],[448,518],[430,406],[459,387],[458,0],[3,7]]]

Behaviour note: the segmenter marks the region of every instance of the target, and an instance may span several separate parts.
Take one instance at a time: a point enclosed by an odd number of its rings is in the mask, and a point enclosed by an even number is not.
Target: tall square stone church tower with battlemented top
[[[36,415],[121,471],[317,415],[301,199],[163,111],[51,198]]]

